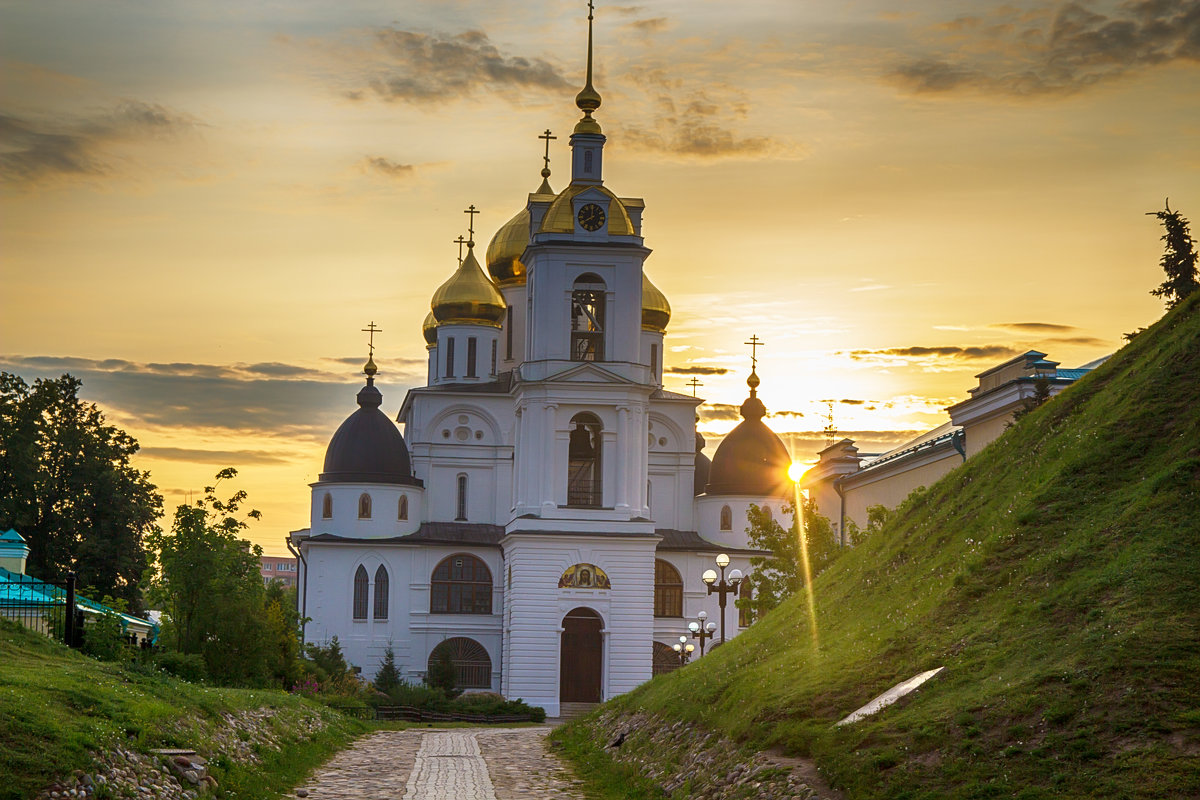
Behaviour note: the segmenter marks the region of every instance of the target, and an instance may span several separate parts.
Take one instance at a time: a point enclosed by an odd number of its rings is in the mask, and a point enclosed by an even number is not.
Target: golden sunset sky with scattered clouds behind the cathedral
[[[581,0],[0,4],[0,369],[64,372],[172,509],[232,465],[286,554],[376,321],[395,416],[421,321],[568,173]],[[668,389],[710,444],[757,335],[768,422],[886,449],[973,375],[1117,349],[1200,221],[1200,0],[596,7],[606,184],[646,198]],[[709,450],[712,452],[712,449]]]

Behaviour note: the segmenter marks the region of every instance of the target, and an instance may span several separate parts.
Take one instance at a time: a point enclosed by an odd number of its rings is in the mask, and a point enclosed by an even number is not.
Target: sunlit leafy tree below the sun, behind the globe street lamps
[[[785,529],[766,510],[750,506],[746,535],[750,546],[769,551],[770,555],[756,555],[750,559],[754,595],[740,597],[738,608],[751,609],[756,616],[764,614],[787,596],[804,588],[804,561],[800,554],[800,518],[804,523],[804,536],[808,543],[809,566],[815,578],[838,557],[838,541],[829,521],[817,513],[816,504],[803,499],[802,515],[792,516],[792,524]],[[793,505],[785,506],[785,513],[792,513]]]

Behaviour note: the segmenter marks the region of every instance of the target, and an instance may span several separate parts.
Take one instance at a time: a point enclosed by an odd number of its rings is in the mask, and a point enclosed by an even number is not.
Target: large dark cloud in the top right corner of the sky
[[[1044,17],[1022,18],[1012,7],[997,13],[1007,18],[961,17],[940,25],[953,50],[900,64],[892,79],[913,92],[1038,96],[1200,60],[1200,0],[1128,0],[1111,13],[1080,2],[1062,4]]]

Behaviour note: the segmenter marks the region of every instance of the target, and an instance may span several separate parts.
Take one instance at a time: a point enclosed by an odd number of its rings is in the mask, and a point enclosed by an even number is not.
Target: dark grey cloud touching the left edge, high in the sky
[[[35,184],[113,172],[107,149],[174,136],[196,121],[162,106],[127,101],[88,118],[22,119],[0,112],[0,180]]]

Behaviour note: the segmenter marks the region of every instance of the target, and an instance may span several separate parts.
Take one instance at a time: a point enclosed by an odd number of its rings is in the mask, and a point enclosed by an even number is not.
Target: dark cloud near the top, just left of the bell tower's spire
[[[385,28],[374,38],[380,60],[367,85],[386,101],[436,104],[490,90],[514,98],[517,89],[570,88],[550,61],[502,53],[482,31],[449,35]]]

